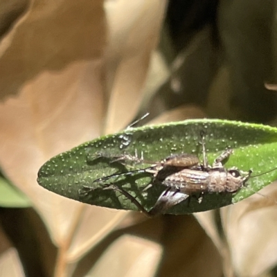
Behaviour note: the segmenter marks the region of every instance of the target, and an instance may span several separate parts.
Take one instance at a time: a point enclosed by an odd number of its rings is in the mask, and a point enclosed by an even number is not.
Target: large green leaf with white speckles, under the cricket
[[[123,164],[114,161],[113,156],[135,153],[143,159],[161,161],[170,154],[181,152],[197,154],[202,160],[199,146],[200,132],[206,136],[208,161],[221,154],[227,147],[234,154],[226,162],[226,168],[233,166],[240,170],[253,170],[253,175],[267,172],[277,166],[277,128],[265,125],[241,123],[229,120],[185,120],[157,126],[144,126],[125,129],[124,132],[103,136],[84,143],[68,152],[47,161],[39,170],[38,183],[44,188],[78,200],[80,202],[117,209],[137,210],[125,196],[114,190],[104,190],[103,184],[94,180],[116,173],[147,168],[149,164]],[[106,157],[98,157],[97,154]],[[249,179],[248,188],[238,193],[210,193],[198,203],[195,197],[170,208],[168,213],[184,214],[207,211],[238,202],[277,179],[277,170]],[[159,195],[166,188],[152,186],[145,192],[143,188],[151,183],[150,173],[134,173],[111,177],[105,184],[115,184],[127,190],[147,209],[150,210]],[[86,193],[84,186],[93,188]]]

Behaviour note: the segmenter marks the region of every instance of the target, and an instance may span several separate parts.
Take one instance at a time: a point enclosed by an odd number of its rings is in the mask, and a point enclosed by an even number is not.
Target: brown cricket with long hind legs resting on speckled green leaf
[[[227,148],[217,157],[212,165],[208,164],[205,147],[205,136],[202,132],[201,145],[202,145],[202,162],[195,154],[172,154],[163,161],[152,163],[146,161],[143,157],[139,158],[137,155],[131,156],[129,154],[122,154],[113,158],[114,161],[121,163],[134,162],[134,163],[150,163],[151,166],[139,170],[109,175],[93,181],[93,183],[100,183],[103,189],[110,189],[120,192],[134,203],[139,211],[143,212],[148,217],[154,217],[166,213],[169,208],[175,206],[190,197],[196,197],[199,203],[207,193],[236,193],[242,187],[247,186],[247,181],[251,177],[252,171],[244,172],[238,168],[225,168],[224,161],[226,161],[233,150]],[[100,154],[101,157],[104,154]],[[134,172],[149,172],[152,174],[152,182],[150,186],[165,186],[165,190],[161,193],[157,202],[150,209],[145,210],[142,204],[136,197],[130,195],[123,188],[119,188],[114,184],[105,183],[111,177],[119,175],[132,175]],[[145,188],[147,190],[150,186]],[[93,190],[89,186],[84,186],[86,193]]]

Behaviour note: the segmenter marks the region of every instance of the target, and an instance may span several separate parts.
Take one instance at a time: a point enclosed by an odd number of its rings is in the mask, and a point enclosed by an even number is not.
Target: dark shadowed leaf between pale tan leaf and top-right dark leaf
[[[168,69],[163,69],[166,80],[159,89],[156,87],[156,91],[150,89],[150,96],[145,97],[148,101],[143,111],[150,112],[150,118],[187,103],[197,103],[200,107],[206,105],[208,88],[217,71],[217,50],[212,33],[211,26],[199,31]],[[164,47],[167,53],[168,45]]]

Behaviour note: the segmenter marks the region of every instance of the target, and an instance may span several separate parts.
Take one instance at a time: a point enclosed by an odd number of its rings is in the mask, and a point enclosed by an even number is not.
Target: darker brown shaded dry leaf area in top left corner
[[[0,44],[1,98],[19,93],[28,80],[37,78],[42,71],[59,74],[71,63],[100,59],[104,44],[101,0],[47,4],[32,1],[24,17]]]

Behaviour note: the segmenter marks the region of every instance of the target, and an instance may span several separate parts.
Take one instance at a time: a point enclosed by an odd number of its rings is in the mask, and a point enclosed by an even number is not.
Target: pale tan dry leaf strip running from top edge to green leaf
[[[107,1],[109,106],[105,133],[122,129],[130,116],[136,116],[165,8],[165,0]]]

